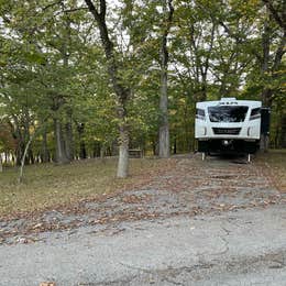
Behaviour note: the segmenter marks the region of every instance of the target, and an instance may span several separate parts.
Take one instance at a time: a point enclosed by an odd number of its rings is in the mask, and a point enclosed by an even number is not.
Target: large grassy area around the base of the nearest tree
[[[146,183],[164,161],[130,160],[127,179],[116,178],[117,160],[86,160],[68,165],[38,164],[26,166],[24,182],[16,183],[18,168],[0,174],[0,217],[48,210],[58,206],[92,199],[102,194],[132,189]]]

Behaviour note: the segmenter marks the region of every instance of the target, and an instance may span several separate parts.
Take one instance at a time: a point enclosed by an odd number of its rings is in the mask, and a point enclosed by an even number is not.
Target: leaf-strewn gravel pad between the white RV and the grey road
[[[85,226],[95,233],[123,231],[122,222],[158,220],[173,216],[221,213],[243,208],[266,208],[285,204],[286,195],[276,190],[265,169],[252,162],[179,156],[174,168],[153,177],[141,189],[121,191],[97,201],[81,201],[68,209],[0,221],[0,243],[31,243],[45,240],[51,231],[70,234]]]

